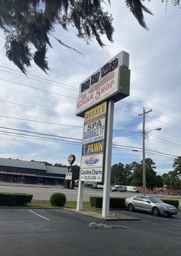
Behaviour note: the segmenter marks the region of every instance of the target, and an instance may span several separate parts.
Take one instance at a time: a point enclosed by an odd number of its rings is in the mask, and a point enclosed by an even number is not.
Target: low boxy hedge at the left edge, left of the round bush
[[[0,206],[24,206],[31,203],[33,195],[21,193],[0,193]]]

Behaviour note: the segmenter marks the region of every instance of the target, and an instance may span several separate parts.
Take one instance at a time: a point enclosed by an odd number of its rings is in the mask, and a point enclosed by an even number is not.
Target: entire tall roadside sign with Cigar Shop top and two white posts
[[[129,54],[120,52],[80,84],[76,115],[84,117],[77,211],[84,182],[104,182],[102,216],[109,216],[114,102],[129,96]]]

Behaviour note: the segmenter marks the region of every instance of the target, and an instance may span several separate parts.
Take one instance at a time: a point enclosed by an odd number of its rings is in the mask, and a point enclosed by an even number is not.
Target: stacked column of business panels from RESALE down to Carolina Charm
[[[85,113],[81,181],[102,181],[106,114],[107,102],[102,102]]]

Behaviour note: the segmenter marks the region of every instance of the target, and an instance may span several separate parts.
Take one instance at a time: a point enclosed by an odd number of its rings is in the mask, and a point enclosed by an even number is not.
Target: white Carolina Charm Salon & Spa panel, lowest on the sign
[[[80,180],[102,182],[102,168],[81,168]]]

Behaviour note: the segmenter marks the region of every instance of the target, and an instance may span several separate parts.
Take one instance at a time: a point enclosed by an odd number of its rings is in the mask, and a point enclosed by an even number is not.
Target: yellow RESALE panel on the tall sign
[[[95,108],[91,108],[90,110],[86,111],[84,116],[84,122],[91,120],[92,118],[96,118],[102,114],[106,114],[107,110],[107,102],[102,102],[98,104]]]

